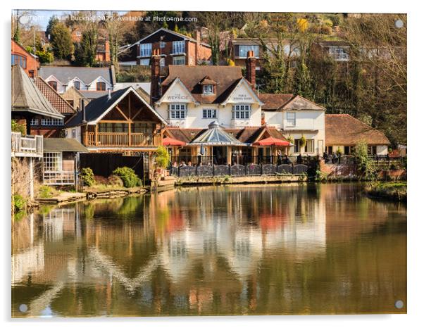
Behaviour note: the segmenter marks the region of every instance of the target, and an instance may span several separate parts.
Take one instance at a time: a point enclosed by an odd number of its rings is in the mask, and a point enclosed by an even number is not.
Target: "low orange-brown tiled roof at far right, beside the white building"
[[[383,132],[366,125],[351,115],[325,115],[325,144],[327,146],[354,146],[361,141],[365,141],[367,144],[390,144]]]

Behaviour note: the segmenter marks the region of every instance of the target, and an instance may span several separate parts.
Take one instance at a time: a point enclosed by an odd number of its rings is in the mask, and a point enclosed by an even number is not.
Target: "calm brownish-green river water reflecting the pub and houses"
[[[406,313],[406,206],[360,191],[232,185],[44,206],[12,225],[12,316]]]

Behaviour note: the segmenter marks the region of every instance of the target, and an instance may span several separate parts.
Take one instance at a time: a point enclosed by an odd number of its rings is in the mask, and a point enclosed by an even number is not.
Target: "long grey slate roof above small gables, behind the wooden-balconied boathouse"
[[[78,77],[85,84],[90,84],[101,76],[110,84],[115,84],[115,69],[110,67],[77,67],[77,66],[42,66],[38,75],[44,80],[54,75],[62,84],[68,84],[74,77]]]

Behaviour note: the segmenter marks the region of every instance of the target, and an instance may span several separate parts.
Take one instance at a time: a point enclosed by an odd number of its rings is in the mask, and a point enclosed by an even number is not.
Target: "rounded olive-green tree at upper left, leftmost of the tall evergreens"
[[[73,56],[74,46],[70,30],[65,24],[56,22],[50,30],[51,46],[54,56],[58,59],[70,59]]]

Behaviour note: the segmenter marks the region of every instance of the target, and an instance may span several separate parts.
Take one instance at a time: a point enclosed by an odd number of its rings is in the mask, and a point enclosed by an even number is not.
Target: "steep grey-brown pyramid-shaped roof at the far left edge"
[[[27,112],[63,118],[18,65],[12,66],[12,112]]]

